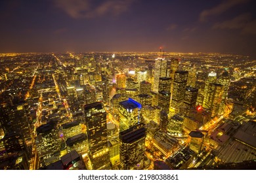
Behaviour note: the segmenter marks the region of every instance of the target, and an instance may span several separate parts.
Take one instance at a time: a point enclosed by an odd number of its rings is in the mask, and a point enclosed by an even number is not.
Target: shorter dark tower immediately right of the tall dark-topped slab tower
[[[186,112],[189,112],[190,108],[196,107],[196,99],[198,97],[198,88],[187,86],[184,97],[184,107]]]

